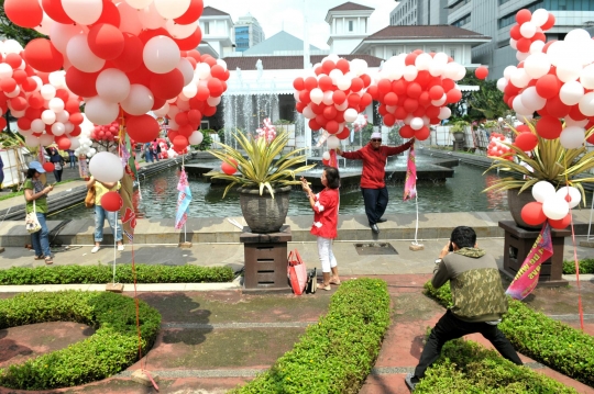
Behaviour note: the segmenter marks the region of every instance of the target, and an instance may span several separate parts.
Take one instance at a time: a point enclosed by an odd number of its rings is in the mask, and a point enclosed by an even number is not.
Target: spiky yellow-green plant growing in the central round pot
[[[260,195],[264,193],[264,188],[268,190],[274,199],[274,189],[288,184],[300,184],[295,180],[295,173],[307,171],[316,165],[295,166],[305,162],[305,155],[300,155],[304,149],[290,150],[283,154],[283,149],[288,143],[288,134],[282,132],[270,143],[266,138],[253,138],[241,133],[233,133],[233,138],[248,155],[243,157],[242,153],[229,145],[219,144],[224,151],[210,150],[210,154],[218,159],[237,168],[239,175],[228,176],[223,172],[215,172],[212,178],[224,179],[231,183],[224,189],[223,198],[234,185],[260,188]],[[278,159],[275,159],[280,156]],[[235,162],[233,162],[237,161]],[[212,172],[211,172],[212,173]]]

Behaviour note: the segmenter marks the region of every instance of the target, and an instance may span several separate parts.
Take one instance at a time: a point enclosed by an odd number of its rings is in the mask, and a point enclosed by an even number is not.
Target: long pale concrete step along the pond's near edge
[[[376,241],[386,239],[415,239],[415,214],[386,214],[386,223],[380,224],[380,234],[373,234],[365,215],[341,215],[339,219],[338,240]],[[245,226],[243,217],[233,217]],[[452,229],[460,225],[471,226],[480,238],[503,237],[499,221],[509,221],[508,212],[459,212],[426,213],[419,215],[417,239],[447,239]],[[586,235],[590,210],[574,211],[575,234]],[[293,241],[315,241],[309,234],[312,216],[289,216],[286,222],[292,228]],[[50,240],[59,245],[92,245],[94,219],[48,221]],[[239,244],[240,230],[226,218],[190,217],[184,230],[174,229],[174,219],[138,219],[134,244],[140,245],[177,245],[185,240],[198,244],[230,243]],[[124,241],[127,241],[124,237]],[[105,228],[106,245],[113,243],[109,226]],[[26,233],[22,221],[4,222],[0,228],[0,247],[22,247],[31,244],[31,235]]]

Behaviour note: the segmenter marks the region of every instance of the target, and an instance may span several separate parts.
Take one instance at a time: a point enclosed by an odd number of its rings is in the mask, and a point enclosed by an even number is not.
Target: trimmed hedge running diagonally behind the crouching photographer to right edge
[[[436,290],[429,281],[425,289],[443,306],[451,305],[449,283]],[[594,386],[594,337],[512,299],[499,329],[522,354]]]

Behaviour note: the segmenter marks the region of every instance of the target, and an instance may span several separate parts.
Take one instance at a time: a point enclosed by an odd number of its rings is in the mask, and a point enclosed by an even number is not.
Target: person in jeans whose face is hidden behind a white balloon
[[[111,232],[114,234],[116,241],[118,243],[118,250],[124,250],[122,244],[122,225],[118,224],[117,212],[109,212],[101,206],[101,198],[110,191],[120,190],[120,182],[101,182],[90,177],[87,182],[87,190],[95,188],[95,247],[91,249],[91,254],[99,251],[101,241],[103,240],[103,224],[106,218],[111,227]]]

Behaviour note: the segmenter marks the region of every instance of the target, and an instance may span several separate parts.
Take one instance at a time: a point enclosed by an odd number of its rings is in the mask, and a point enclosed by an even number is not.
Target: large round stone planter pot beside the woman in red
[[[252,233],[277,233],[288,213],[292,187],[274,189],[274,199],[266,188],[260,195],[258,189],[240,188],[240,205]]]

